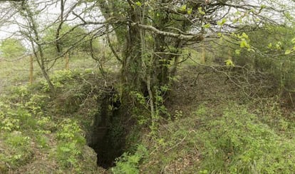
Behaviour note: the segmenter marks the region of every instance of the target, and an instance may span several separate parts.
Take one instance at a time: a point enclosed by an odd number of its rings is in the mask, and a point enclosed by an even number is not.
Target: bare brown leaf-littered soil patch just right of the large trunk
[[[216,108],[229,101],[241,104],[247,101],[245,93],[227,81],[227,76],[222,73],[212,70],[200,74],[196,67],[188,66],[179,71],[178,76],[181,78],[174,84],[170,99],[167,100],[170,113],[182,111],[186,116],[197,110],[200,104]]]

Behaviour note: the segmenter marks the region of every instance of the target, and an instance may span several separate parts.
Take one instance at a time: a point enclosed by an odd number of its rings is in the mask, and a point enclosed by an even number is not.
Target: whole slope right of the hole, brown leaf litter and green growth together
[[[175,121],[143,140],[142,173],[294,173],[295,114],[247,99],[218,73],[184,68],[168,104]],[[196,82],[196,83],[195,83]]]

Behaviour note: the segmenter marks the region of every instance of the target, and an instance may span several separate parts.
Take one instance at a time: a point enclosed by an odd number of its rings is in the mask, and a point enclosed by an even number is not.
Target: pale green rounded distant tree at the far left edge
[[[26,48],[19,39],[9,38],[1,41],[1,56],[7,59],[19,58],[26,53]]]

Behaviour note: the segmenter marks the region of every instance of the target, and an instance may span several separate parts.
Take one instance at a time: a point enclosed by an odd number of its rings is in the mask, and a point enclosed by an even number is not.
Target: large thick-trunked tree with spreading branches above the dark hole
[[[112,50],[120,50],[114,54],[122,63],[123,91],[127,93],[123,99],[130,91],[142,93],[152,118],[158,114],[157,95],[162,96],[170,86],[182,48],[205,37],[242,33],[245,24],[255,29],[276,23],[266,15],[276,11],[273,7],[249,1],[100,0],[95,4],[105,18],[107,32],[115,34],[121,46]]]

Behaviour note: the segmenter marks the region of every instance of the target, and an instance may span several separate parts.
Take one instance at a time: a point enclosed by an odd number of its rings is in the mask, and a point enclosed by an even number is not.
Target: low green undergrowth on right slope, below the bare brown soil
[[[294,173],[294,139],[277,131],[281,124],[271,127],[264,116],[249,111],[235,103],[219,109],[200,106],[192,116],[162,125],[157,140],[146,138],[150,155],[140,169],[144,173]]]

